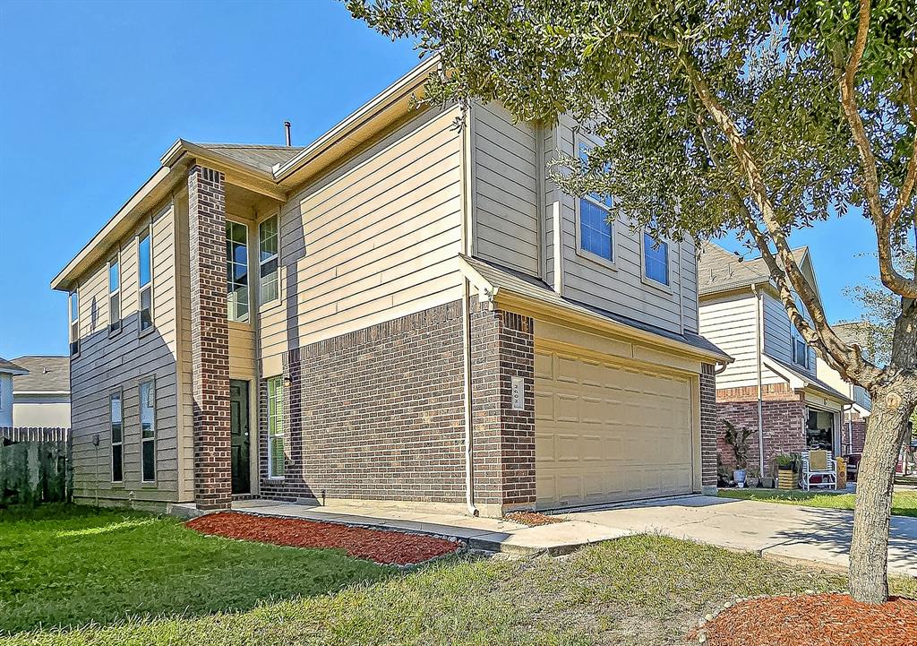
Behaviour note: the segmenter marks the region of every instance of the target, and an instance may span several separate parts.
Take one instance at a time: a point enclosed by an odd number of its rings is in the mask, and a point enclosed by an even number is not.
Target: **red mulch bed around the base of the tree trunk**
[[[724,610],[688,638],[708,646],[917,646],[917,601],[870,606],[847,595],[772,596]]]

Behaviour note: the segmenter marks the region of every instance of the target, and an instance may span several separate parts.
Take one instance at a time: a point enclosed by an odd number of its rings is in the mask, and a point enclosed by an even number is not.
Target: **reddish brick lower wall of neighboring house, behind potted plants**
[[[751,399],[747,398],[749,392]],[[732,447],[724,439],[723,420],[728,419],[736,429],[752,429],[752,434],[748,436],[748,466],[761,469],[757,438],[757,388],[723,389],[717,391],[716,398],[719,429],[716,450],[724,467],[729,470],[735,468]],[[764,468],[761,473],[772,475],[774,458],[779,453],[805,451],[807,408],[802,395],[794,393],[784,384],[765,386],[762,402]]]

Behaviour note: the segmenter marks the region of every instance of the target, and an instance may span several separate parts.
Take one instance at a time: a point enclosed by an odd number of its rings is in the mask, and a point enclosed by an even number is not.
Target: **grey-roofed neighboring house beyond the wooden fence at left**
[[[70,428],[70,357],[13,360],[28,373],[13,377],[13,425]]]

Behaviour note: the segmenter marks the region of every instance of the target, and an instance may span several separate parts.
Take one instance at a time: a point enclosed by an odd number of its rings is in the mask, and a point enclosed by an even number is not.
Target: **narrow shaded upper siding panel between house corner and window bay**
[[[475,105],[471,123],[475,255],[537,276],[536,129],[496,103]]]

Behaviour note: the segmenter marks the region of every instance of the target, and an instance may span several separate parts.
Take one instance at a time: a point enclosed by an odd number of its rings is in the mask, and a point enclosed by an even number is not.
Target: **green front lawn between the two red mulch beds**
[[[406,573],[109,512],[0,522],[0,541],[5,646],[673,644],[731,596],[845,585],[657,536],[559,559],[454,557]],[[893,588],[917,596],[915,580]]]

